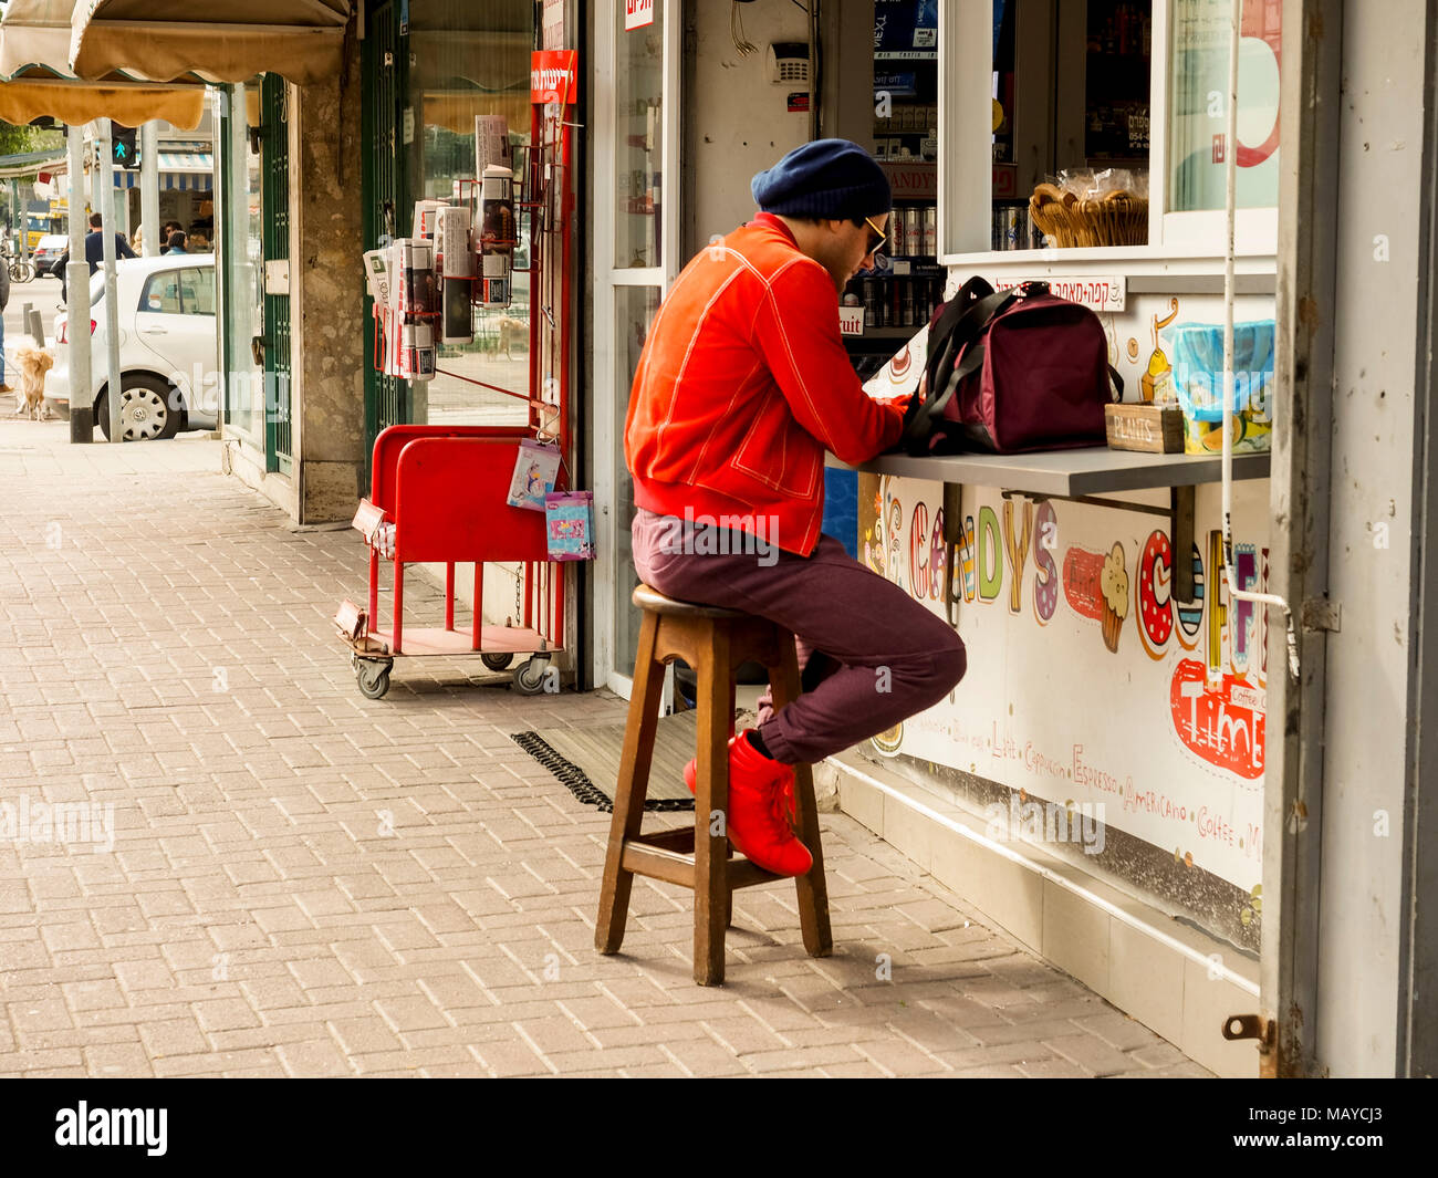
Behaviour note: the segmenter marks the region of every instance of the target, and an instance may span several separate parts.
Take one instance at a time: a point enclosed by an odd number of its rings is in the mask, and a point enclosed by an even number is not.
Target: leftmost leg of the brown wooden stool
[[[624,840],[634,839],[644,820],[644,797],[649,793],[649,767],[654,755],[654,728],[659,723],[659,695],[664,682],[664,665],[654,660],[659,617],[646,613],[638,631],[634,656],[634,693],[630,696],[628,721],[624,726],[624,752],[620,775],[614,787],[614,816],[610,818],[610,843],[604,856],[604,882],[600,889],[600,916],[594,925],[594,948],[601,954],[617,954],[624,942],[628,919],[630,885],[634,873],[626,872]]]

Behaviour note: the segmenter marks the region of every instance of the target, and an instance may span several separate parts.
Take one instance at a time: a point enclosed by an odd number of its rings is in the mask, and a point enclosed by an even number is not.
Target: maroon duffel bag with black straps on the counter
[[[995,293],[971,278],[935,312],[925,371],[899,443],[910,455],[1102,446],[1110,378],[1123,396],[1099,316],[1044,282]]]

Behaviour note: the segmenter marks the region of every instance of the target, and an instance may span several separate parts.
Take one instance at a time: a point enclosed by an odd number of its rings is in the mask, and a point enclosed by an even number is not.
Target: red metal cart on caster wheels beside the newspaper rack
[[[374,443],[370,498],[355,526],[370,541],[370,600],[361,611],[339,607],[335,623],[349,646],[361,695],[380,699],[401,656],[479,654],[503,670],[515,654],[515,686],[538,695],[557,682],[551,657],[564,646],[564,577],[548,560],[544,512],[505,502],[519,442],[528,427],[391,426]],[[394,616],[380,627],[381,558],[394,561]],[[404,565],[443,564],[444,626],[404,629]],[[482,624],[485,564],[521,565],[515,614],[503,626]],[[475,564],[473,624],[454,629],[454,565]]]

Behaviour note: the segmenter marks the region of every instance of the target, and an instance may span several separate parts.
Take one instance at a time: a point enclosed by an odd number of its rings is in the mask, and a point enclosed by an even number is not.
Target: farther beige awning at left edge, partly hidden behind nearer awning
[[[75,0],[10,0],[0,19],[0,119],[50,115],[72,127],[112,118],[127,127],[164,119],[186,131],[204,118],[204,85],[135,83],[119,75],[79,82],[69,70]]]

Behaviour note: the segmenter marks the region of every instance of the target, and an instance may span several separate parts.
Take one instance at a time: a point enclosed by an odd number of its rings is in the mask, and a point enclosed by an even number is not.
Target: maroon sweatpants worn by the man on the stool
[[[766,617],[798,639],[804,693],[777,713],[759,712],[759,736],[777,761],[821,761],[938,703],[963,677],[953,627],[833,537],[821,537],[808,557],[768,545],[755,551],[738,532],[722,544],[676,544],[682,537],[679,521],[636,513],[634,568],[647,585]]]

